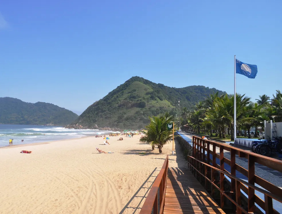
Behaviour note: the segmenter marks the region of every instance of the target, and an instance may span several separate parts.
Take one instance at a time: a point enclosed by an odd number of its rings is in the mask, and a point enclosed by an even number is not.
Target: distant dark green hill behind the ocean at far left
[[[72,111],[51,103],[28,103],[11,97],[0,98],[0,123],[3,124],[66,125],[77,117]]]

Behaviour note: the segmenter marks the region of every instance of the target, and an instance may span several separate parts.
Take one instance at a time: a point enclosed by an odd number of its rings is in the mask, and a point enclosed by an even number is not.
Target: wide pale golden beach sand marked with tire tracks
[[[172,142],[158,153],[140,136],[0,148],[0,213],[139,213],[167,154],[170,167],[187,168]]]

